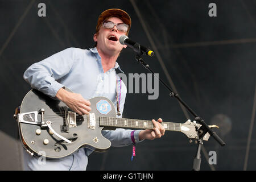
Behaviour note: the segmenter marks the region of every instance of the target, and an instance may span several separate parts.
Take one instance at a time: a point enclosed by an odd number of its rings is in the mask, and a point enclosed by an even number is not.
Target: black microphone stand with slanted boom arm
[[[136,52],[135,60],[137,60],[138,63],[141,63],[144,68],[148,69],[148,71],[150,71],[154,75],[154,77],[156,77],[154,71],[152,71],[150,66],[147,63],[145,63],[141,57],[143,55],[141,52],[141,46],[138,43],[136,43],[134,44],[133,49]],[[195,121],[200,123],[201,125],[200,128],[198,126],[196,127],[197,151],[196,151],[196,156],[193,159],[193,166],[192,166],[193,171],[199,171],[200,164],[201,164],[201,146],[203,146],[204,135],[209,133],[221,146],[225,146],[225,142],[223,142],[223,140],[220,137],[218,137],[215,131],[210,129],[210,127],[204,122],[204,120],[201,117],[199,117],[199,115],[197,115],[195,111],[193,111],[191,107],[189,107],[183,100],[181,100],[180,96],[174,91],[172,91],[172,89],[161,78],[158,78],[158,80],[170,91],[169,96],[175,97],[189,111],[189,113],[191,113],[195,117]]]

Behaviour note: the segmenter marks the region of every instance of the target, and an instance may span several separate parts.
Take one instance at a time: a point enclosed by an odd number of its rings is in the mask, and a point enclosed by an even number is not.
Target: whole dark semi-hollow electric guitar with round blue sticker
[[[104,152],[111,142],[102,136],[102,129],[154,128],[152,121],[116,118],[115,106],[108,98],[94,97],[89,101],[92,110],[82,116],[70,110],[64,102],[54,100],[38,90],[30,90],[23,98],[19,113],[16,111],[14,115],[25,150],[31,155],[47,159],[64,158],[81,147]],[[161,124],[166,131],[180,131],[190,139],[208,140],[210,136],[209,133],[197,133],[196,127],[205,130],[190,119],[185,123]]]

